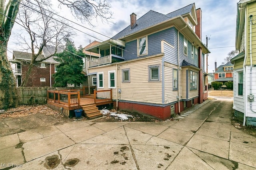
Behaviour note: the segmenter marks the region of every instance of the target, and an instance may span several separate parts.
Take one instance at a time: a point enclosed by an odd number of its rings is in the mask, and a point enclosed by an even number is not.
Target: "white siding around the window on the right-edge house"
[[[244,113],[244,83],[243,81],[243,96],[238,96],[238,72],[243,71],[243,69],[234,70],[234,106],[236,106],[235,110]],[[245,80],[245,77],[243,77]]]

